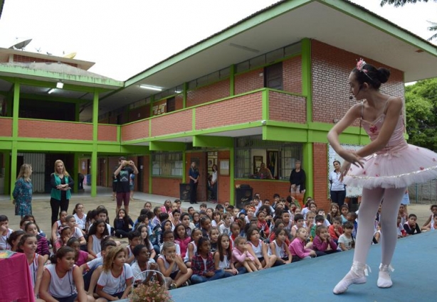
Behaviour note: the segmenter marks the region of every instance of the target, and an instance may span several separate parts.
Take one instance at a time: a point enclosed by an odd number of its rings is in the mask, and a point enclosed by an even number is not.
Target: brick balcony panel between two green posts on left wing
[[[93,124],[19,119],[19,137],[92,141]]]

